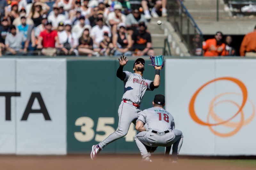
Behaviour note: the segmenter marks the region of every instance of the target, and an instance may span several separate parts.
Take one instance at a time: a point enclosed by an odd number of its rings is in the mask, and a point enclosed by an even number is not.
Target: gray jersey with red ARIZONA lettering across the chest
[[[146,90],[150,90],[151,80],[142,78],[139,74],[124,71],[126,77],[124,79],[124,95],[122,100],[128,100],[136,104],[140,104]]]

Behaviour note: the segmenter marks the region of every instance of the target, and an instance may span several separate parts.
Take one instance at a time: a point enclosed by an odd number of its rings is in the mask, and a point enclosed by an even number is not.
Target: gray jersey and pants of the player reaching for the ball
[[[136,107],[134,105],[140,105],[146,90],[154,90],[153,88],[150,89],[150,84],[153,83],[153,81],[142,78],[140,74],[131,73],[129,71],[123,71],[123,74],[125,74],[125,78],[123,79],[124,95],[118,108],[118,130],[100,142],[100,148],[105,147],[107,144],[127,134],[131,122],[136,120],[142,111],[139,106]]]

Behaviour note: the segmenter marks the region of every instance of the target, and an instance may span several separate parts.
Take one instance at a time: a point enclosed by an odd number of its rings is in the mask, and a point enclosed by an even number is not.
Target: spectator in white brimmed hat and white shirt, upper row
[[[115,4],[113,12],[110,12],[108,14],[108,23],[111,26],[111,32],[112,34],[116,34],[117,31],[117,25],[120,22],[125,23],[126,16],[121,13],[122,6],[120,4]]]

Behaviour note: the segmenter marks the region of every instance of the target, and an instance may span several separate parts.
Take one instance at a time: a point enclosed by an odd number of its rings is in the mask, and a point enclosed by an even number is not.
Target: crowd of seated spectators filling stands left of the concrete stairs
[[[149,1],[2,0],[0,55],[154,55],[147,24],[166,0]]]

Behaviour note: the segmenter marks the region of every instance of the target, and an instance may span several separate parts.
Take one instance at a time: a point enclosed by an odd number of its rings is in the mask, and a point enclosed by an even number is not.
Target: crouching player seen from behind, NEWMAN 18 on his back
[[[180,130],[174,129],[175,124],[172,115],[164,110],[165,99],[161,94],[157,94],[152,102],[154,107],[143,110],[140,114],[135,128],[140,131],[134,139],[145,161],[152,161],[150,159],[150,147],[165,146],[169,148],[172,146],[172,163],[177,162],[178,154],[183,142],[183,135]],[[148,128],[144,127],[147,123]],[[147,147],[148,146],[148,147]],[[166,148],[166,150],[168,150]],[[156,148],[155,148],[156,149]],[[168,152],[168,155],[169,155]]]

